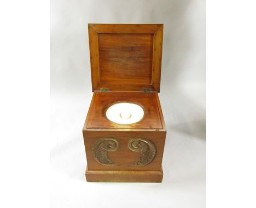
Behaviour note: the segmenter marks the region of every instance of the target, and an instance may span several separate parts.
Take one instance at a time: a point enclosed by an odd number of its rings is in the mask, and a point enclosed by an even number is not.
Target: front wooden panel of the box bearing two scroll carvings
[[[166,132],[83,130],[88,170],[161,171]]]

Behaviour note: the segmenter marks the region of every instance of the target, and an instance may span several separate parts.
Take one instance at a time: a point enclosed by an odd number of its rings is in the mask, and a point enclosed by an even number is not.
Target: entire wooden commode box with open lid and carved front
[[[166,137],[158,97],[163,25],[89,24],[88,30],[94,94],[83,127],[86,180],[161,182]],[[110,111],[120,103],[127,107]]]

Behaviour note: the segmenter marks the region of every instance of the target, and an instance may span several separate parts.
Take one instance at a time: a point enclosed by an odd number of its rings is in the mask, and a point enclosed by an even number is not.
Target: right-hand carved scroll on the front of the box
[[[156,155],[156,148],[153,142],[149,139],[136,138],[131,139],[128,143],[129,149],[136,152],[141,152],[139,160],[133,163],[133,166],[146,166],[152,162]]]

